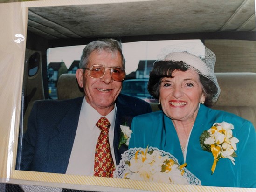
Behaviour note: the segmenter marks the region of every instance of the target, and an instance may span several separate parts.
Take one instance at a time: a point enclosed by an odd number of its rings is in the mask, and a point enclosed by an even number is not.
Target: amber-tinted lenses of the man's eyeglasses
[[[99,79],[105,73],[106,68],[104,66],[92,66],[90,68],[90,77]],[[121,68],[111,68],[111,77],[114,81],[123,81],[125,79],[125,71]]]

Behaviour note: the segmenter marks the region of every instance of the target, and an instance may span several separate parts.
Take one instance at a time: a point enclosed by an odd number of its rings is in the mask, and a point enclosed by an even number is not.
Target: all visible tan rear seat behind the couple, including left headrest
[[[216,73],[221,94],[213,108],[248,119],[256,128],[256,73]],[[62,74],[58,81],[58,99],[83,96],[75,74]],[[159,110],[158,103],[150,103]]]

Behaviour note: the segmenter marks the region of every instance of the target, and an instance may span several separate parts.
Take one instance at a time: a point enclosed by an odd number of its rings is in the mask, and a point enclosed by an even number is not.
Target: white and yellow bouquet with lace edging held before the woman
[[[183,185],[201,185],[201,181],[165,151],[154,147],[131,148],[122,154],[114,171],[115,178]]]

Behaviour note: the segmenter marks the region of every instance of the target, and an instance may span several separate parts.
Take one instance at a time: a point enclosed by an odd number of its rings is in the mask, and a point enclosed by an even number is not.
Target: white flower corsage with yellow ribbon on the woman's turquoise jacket
[[[234,157],[237,157],[235,153],[236,143],[239,140],[233,137],[233,129],[234,126],[227,122],[214,123],[209,130],[205,130],[200,136],[201,148],[211,152],[214,156],[214,163],[211,168],[212,174],[220,158],[228,158],[235,165]]]

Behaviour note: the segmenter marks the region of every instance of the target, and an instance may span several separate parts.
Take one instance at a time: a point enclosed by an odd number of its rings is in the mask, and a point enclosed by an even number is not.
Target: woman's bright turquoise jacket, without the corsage
[[[234,125],[233,136],[239,139],[235,165],[228,158],[221,158],[213,174],[214,157],[202,150],[199,137],[214,123],[227,122]],[[157,147],[171,153],[180,165],[185,163],[178,135],[173,123],[162,111],[134,117],[131,123],[129,148]],[[187,146],[187,169],[205,186],[256,188],[256,131],[251,122],[234,114],[213,110],[202,104],[196,117]]]

